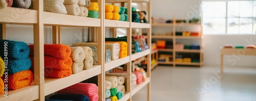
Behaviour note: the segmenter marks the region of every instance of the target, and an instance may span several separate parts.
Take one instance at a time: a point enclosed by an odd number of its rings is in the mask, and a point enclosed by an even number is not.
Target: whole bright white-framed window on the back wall
[[[256,34],[256,1],[203,1],[206,34]]]

